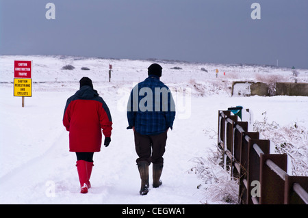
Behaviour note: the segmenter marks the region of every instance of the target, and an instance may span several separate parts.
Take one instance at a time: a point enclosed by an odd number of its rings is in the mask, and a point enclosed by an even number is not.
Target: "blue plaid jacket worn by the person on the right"
[[[142,135],[158,135],[172,129],[175,102],[159,77],[149,75],[133,87],[127,103],[127,120],[127,129],[134,126],[135,131]]]

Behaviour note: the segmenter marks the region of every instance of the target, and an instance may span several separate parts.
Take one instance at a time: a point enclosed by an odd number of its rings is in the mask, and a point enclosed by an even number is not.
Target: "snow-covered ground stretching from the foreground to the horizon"
[[[21,98],[13,96],[14,60],[18,59],[33,61],[32,97],[25,98],[24,108]],[[153,62],[163,67],[161,80],[172,90],[177,116],[173,130],[168,131],[163,185],[141,196],[133,133],[126,129],[126,104],[131,88],[146,78]],[[62,70],[67,64],[75,69]],[[109,64],[113,66],[111,82]],[[308,70],[298,72],[298,82],[308,82]],[[202,181],[190,170],[194,158],[217,149],[218,110],[242,105],[253,111],[255,120],[263,120],[266,111],[268,122],[282,126],[296,122],[308,128],[306,96],[231,97],[232,81],[256,81],[269,75],[294,81],[290,68],[270,66],[0,56],[0,203],[220,204],[197,189]],[[92,188],[85,195],[79,193],[76,157],[68,152],[68,132],[62,125],[66,99],[79,89],[84,76],[92,79],[94,89],[110,107],[114,123],[110,146],[94,154]]]

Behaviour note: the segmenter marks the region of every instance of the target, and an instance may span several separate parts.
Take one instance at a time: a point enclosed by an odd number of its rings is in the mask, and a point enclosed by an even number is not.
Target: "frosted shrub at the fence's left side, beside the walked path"
[[[238,203],[238,182],[231,180],[231,176],[226,169],[220,166],[220,152],[209,152],[210,156],[192,159],[196,164],[192,167],[202,184],[198,189],[202,189],[204,195],[201,202],[203,204],[237,204]]]

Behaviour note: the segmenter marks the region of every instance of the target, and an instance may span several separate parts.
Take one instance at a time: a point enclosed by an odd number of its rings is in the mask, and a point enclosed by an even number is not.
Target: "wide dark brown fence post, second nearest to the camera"
[[[268,167],[268,160],[287,171],[287,154],[261,154],[260,156],[260,204],[283,204],[285,181]],[[286,174],[286,173],[285,173]]]

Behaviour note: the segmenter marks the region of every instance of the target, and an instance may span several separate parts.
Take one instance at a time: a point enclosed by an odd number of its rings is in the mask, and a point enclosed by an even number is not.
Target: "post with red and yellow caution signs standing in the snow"
[[[31,61],[14,61],[14,96],[21,96],[21,107],[25,97],[32,96]]]

